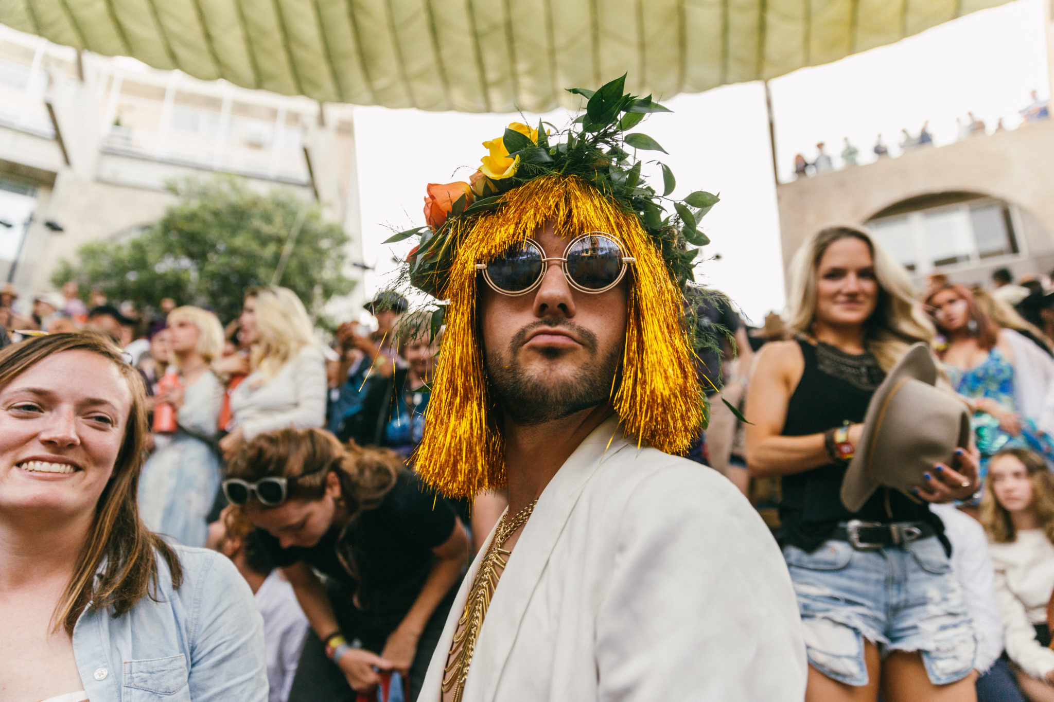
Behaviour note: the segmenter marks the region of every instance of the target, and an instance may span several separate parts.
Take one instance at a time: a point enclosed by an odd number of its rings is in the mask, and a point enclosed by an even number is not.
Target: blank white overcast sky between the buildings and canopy
[[[850,137],[870,155],[882,133],[894,154],[900,129],[917,133],[929,120],[938,144],[956,136],[955,118],[968,111],[989,128],[1017,111],[1029,91],[1048,95],[1041,0],[1015,0],[934,27],[892,46],[770,81],[782,177],[795,154],[812,160],[815,144],[841,152]],[[612,76],[613,78],[613,76]],[[677,177],[675,197],[695,189],[720,193],[703,220],[713,243],[697,279],[723,289],[760,323],[784,306],[779,218],[761,83],[728,85],[663,101],[674,114],[649,117],[638,131],[662,144]],[[481,142],[501,136],[516,115],[355,109],[366,262],[378,273],[394,267],[389,226],[424,224],[425,185],[468,180],[485,155]],[[536,116],[529,116],[536,123]],[[545,118],[566,123],[564,112]],[[836,162],[838,159],[836,158]],[[645,172],[646,173],[646,172]],[[661,180],[661,179],[660,179]],[[403,246],[401,253],[408,248]],[[370,293],[384,276],[370,276]]]

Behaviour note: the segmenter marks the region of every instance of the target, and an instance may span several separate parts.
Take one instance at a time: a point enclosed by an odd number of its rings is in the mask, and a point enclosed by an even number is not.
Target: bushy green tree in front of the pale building
[[[62,261],[52,283],[98,286],[111,300],[156,308],[163,298],[211,306],[221,320],[237,317],[247,288],[273,279],[290,243],[279,283],[318,312],[354,282],[345,276],[348,236],[321,219],[318,206],[288,190],[261,194],[233,177],[170,183],[179,202],[141,234],[95,241]],[[295,238],[295,243],[291,240]]]

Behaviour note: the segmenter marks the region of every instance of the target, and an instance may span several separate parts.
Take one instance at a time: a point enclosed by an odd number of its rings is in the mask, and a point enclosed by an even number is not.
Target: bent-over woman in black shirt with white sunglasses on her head
[[[305,641],[290,702],[352,701],[378,670],[409,677],[416,699],[468,536],[453,506],[399,463],[323,429],[287,428],[245,445],[223,481],[317,635]]]

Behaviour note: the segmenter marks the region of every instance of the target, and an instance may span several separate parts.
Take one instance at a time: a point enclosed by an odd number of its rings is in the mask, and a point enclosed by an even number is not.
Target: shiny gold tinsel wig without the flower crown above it
[[[683,297],[640,222],[577,176],[533,179],[504,200],[497,212],[452,233],[458,243],[441,293],[450,303],[429,421],[414,457],[417,473],[451,497],[505,486],[504,442],[476,332],[476,287],[485,283],[475,264],[500,257],[547,221],[567,237],[606,232],[637,259],[614,408],[640,441],[668,453],[686,449],[698,436],[703,404]]]

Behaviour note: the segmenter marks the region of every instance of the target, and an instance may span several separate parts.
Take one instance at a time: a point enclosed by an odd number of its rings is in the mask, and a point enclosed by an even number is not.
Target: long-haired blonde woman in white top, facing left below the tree
[[[326,360],[304,303],[288,287],[254,287],[238,320],[250,375],[231,394],[234,428],[219,442],[230,460],[258,434],[326,422]]]

